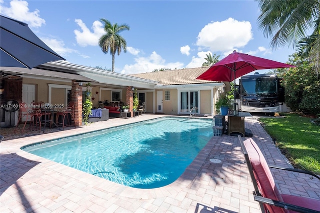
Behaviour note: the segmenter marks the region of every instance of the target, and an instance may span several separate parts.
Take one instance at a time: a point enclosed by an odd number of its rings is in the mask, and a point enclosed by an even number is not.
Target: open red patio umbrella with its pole
[[[195,79],[210,80],[210,81],[232,81],[234,80],[234,92],[235,92],[235,79],[252,72],[257,69],[274,69],[284,67],[295,67],[290,64],[272,61],[265,58],[260,58],[252,55],[248,55],[235,50],[216,62],[208,70],[203,72]],[[235,103],[235,95],[234,95]]]

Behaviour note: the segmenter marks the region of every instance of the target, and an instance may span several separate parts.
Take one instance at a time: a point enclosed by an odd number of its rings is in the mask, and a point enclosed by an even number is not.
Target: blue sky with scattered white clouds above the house
[[[0,0],[0,8],[68,62],[91,67],[111,68],[111,55],[97,45],[104,33],[99,19],[128,24],[121,32],[127,52],[115,55],[115,72],[122,74],[200,67],[207,53],[222,59],[237,50],[285,63],[294,52],[270,49],[253,0]]]

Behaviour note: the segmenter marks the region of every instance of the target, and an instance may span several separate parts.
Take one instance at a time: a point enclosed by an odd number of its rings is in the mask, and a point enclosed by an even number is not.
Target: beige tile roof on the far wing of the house
[[[130,76],[158,81],[162,85],[204,84],[219,81],[196,80],[195,78],[205,72],[209,67],[185,68],[131,74]]]

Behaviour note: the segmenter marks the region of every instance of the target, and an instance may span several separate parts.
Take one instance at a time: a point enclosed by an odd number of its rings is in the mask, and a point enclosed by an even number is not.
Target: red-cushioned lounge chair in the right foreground
[[[238,136],[238,139],[252,179],[254,201],[259,202],[262,213],[320,213],[320,200],[280,194],[269,167],[308,174],[319,180],[320,177],[304,170],[268,166],[260,149],[251,138],[242,141]]]

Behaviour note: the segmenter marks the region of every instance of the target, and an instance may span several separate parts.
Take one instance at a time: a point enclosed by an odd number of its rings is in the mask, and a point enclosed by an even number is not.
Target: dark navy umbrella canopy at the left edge
[[[0,15],[0,66],[33,68],[65,60],[41,41],[26,23]]]

